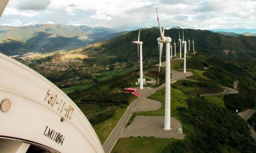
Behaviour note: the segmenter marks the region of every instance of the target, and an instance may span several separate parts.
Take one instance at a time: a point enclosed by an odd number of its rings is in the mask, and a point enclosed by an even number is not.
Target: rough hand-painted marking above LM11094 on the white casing
[[[67,103],[65,101],[63,101],[62,99],[58,98],[58,94],[51,92],[51,90],[49,89],[46,93],[46,96],[44,98],[44,102],[48,102],[49,105],[51,105],[52,107],[56,107],[57,111],[62,113],[62,112],[66,112],[65,116],[68,119],[71,119],[71,116],[73,114],[74,108],[71,105],[66,105]],[[56,104],[56,105],[55,105]],[[66,107],[67,106],[67,107]]]

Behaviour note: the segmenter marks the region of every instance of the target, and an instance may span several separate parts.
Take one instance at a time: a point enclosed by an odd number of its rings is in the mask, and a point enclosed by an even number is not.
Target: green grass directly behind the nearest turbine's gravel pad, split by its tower
[[[162,88],[158,91],[156,91],[154,94],[150,95],[148,98],[154,99],[157,101],[162,102],[162,107],[156,111],[147,111],[147,112],[135,112],[132,114],[130,120],[128,121],[127,125],[130,125],[133,121],[133,119],[137,115],[144,115],[144,116],[164,116],[164,95],[165,95],[165,88]],[[177,108],[178,107],[187,107],[186,100],[188,99],[188,95],[184,94],[181,90],[172,88],[172,100],[171,100],[171,108],[172,117],[175,117],[179,120],[179,117],[177,116]]]

